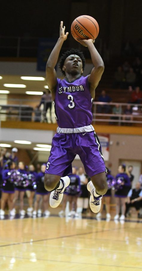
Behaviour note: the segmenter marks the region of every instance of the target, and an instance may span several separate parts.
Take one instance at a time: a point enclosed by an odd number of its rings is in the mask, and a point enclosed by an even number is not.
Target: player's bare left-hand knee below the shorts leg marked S
[[[52,191],[59,182],[60,177],[52,174],[45,174],[44,176],[44,187],[47,191]]]

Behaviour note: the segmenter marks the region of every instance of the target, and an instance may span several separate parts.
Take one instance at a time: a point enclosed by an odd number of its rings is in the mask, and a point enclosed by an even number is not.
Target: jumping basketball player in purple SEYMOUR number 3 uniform
[[[99,212],[102,195],[107,191],[105,163],[100,143],[94,131],[91,107],[95,89],[104,71],[104,63],[94,47],[92,39],[78,41],[88,47],[93,62],[90,75],[84,77],[85,58],[79,50],[71,49],[60,59],[60,68],[65,78],[58,79],[55,72],[59,53],[68,32],[65,33],[63,21],[60,24],[60,37],[53,48],[46,65],[46,80],[52,93],[55,115],[58,123],[57,133],[52,140],[52,148],[47,162],[44,185],[50,194],[50,206],[57,207],[65,188],[70,183],[67,175],[72,174],[72,161],[79,155],[84,169],[91,181],[90,208]]]

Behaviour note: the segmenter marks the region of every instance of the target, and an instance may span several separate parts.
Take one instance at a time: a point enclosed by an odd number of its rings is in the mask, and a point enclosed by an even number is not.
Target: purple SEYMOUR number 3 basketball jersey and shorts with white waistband
[[[72,174],[72,161],[79,155],[88,176],[105,171],[99,139],[91,125],[93,98],[90,95],[88,76],[68,82],[57,79],[55,93],[57,133],[45,173],[58,176]]]

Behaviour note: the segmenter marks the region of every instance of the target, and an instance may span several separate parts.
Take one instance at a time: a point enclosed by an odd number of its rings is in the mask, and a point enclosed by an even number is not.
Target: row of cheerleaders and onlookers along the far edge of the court
[[[17,148],[7,151],[6,148],[0,149],[0,191],[1,191],[1,207],[0,218],[4,218],[5,209],[8,207],[10,216],[15,216],[17,200],[19,199],[19,214],[25,216],[49,216],[49,196],[44,188],[44,172],[46,164],[41,164],[40,168],[35,169],[34,165],[25,166],[24,162],[18,161]],[[131,207],[135,207],[138,218],[140,218],[139,210],[142,207],[142,175],[132,188],[134,176],[132,174],[133,167],[128,168],[125,164],[118,167],[118,174],[111,175],[108,170],[107,182],[108,191],[102,198],[102,205],[96,218],[100,219],[105,204],[106,219],[111,219],[111,196],[112,189],[115,189],[116,215],[114,220],[125,220],[125,217],[130,215]],[[62,210],[58,213],[59,216],[81,216],[87,212],[91,213],[89,208],[89,193],[87,183],[90,181],[82,167],[77,169],[72,168],[70,177],[70,185],[64,192],[62,200]],[[28,207],[25,210],[25,197],[27,198]],[[69,208],[67,210],[67,202]],[[27,204],[26,204],[27,205]]]

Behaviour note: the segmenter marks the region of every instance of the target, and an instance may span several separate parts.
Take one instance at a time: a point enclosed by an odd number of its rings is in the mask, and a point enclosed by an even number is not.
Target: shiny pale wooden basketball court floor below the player
[[[142,270],[142,220],[0,220],[0,270]]]

